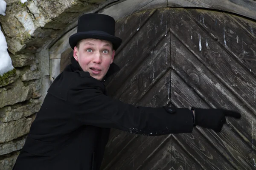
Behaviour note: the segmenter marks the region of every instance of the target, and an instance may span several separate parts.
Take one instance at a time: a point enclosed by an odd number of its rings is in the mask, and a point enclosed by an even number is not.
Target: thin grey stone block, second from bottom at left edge
[[[21,150],[26,141],[26,136],[18,138],[16,140],[0,144],[0,156],[12,153],[17,150]]]

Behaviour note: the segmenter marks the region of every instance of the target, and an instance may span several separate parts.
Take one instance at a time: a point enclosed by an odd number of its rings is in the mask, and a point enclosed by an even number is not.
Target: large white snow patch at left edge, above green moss
[[[14,69],[12,66],[12,59],[9,56],[7,48],[6,38],[4,37],[0,27],[0,76],[3,76],[4,73]]]

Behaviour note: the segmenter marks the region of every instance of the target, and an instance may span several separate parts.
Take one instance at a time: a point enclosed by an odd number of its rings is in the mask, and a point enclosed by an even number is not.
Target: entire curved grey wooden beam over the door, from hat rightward
[[[123,0],[99,13],[108,14],[118,20],[136,11],[164,7],[209,8],[229,11],[256,20],[256,1],[254,0]]]

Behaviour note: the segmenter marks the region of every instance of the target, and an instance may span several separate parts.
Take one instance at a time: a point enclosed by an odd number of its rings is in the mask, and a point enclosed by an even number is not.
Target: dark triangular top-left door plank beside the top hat
[[[140,30],[154,12],[155,10],[138,12],[136,14],[131,14],[128,17],[120,18],[116,21],[115,36],[122,39],[122,44],[116,50],[116,57],[121,56],[118,55],[119,52],[122,51],[122,48],[131,40],[134,34]]]

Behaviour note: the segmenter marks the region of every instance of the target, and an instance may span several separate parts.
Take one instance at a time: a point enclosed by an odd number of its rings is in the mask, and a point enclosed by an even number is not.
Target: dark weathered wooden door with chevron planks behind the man
[[[227,108],[221,133],[141,136],[111,130],[103,170],[256,169],[256,23],[219,11],[161,8],[118,20],[122,69],[108,92],[134,105]]]

